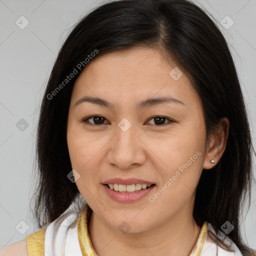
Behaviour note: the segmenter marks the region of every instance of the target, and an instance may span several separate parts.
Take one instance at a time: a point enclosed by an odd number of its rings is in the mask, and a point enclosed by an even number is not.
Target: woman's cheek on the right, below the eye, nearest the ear
[[[159,168],[160,187],[168,187],[164,194],[172,198],[172,203],[182,204],[182,200],[191,196],[200,178],[204,151],[205,129],[200,119],[179,125],[171,136],[166,137],[164,146],[157,148],[159,158],[164,162],[164,168]]]

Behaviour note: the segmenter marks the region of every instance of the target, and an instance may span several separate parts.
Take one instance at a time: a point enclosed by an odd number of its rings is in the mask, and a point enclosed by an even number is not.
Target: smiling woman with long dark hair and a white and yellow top
[[[239,225],[251,155],[214,22],[187,0],[102,4],[65,40],[44,93],[40,230],[2,255],[255,255]]]

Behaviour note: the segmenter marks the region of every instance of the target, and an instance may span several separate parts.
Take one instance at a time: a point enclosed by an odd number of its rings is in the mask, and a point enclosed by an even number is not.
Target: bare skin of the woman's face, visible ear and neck
[[[185,70],[174,80],[169,72],[177,66],[157,49],[134,47],[91,60],[76,79],[69,106],[67,143],[72,169],[80,177],[76,185],[93,212],[88,223],[90,239],[99,256],[189,255],[200,226],[193,219],[195,189],[210,159],[220,159],[229,123],[222,118],[214,135],[206,138],[202,105]],[[113,108],[83,102],[83,96],[102,98]],[[179,103],[161,103],[136,109],[147,98],[170,95]],[[100,115],[93,124],[85,117]],[[157,125],[153,117],[164,116]],[[118,123],[126,118],[131,127]],[[89,125],[91,124],[91,126]],[[157,198],[149,201],[175,171],[196,152],[201,154]],[[204,170],[207,171],[207,170]],[[109,178],[140,178],[154,188],[137,202],[120,203],[105,192]],[[126,221],[130,229],[118,226]]]

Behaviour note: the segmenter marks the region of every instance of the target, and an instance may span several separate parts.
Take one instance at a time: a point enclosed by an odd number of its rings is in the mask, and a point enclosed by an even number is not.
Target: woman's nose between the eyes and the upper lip
[[[121,127],[121,126],[120,126]],[[145,162],[146,146],[131,125],[127,130],[117,126],[116,134],[111,139],[111,147],[107,153],[109,164],[120,169],[130,169]]]

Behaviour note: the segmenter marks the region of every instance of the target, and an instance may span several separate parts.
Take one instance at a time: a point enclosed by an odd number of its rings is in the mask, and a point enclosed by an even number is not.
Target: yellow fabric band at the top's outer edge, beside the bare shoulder
[[[44,256],[44,237],[46,227],[25,237],[28,256]]]

